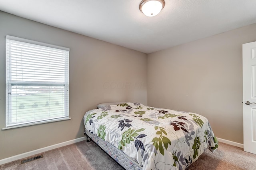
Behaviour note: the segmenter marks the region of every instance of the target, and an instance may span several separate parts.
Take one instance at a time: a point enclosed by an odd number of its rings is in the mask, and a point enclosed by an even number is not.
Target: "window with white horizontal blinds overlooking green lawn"
[[[6,36],[6,128],[69,118],[69,48]]]

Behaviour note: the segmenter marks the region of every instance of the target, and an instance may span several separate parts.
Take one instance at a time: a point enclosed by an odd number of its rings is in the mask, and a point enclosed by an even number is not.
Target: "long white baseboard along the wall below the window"
[[[8,162],[15,161],[15,160],[19,160],[19,159],[22,159],[22,158],[26,158],[28,156],[40,154],[40,153],[46,152],[48,150],[60,148],[62,146],[66,146],[66,145],[69,145],[69,144],[74,144],[76,142],[80,142],[80,141],[83,141],[83,140],[86,140],[86,137],[76,138],[76,139],[69,140],[69,141],[66,141],[66,142],[62,142],[62,143],[59,143],[59,144],[54,144],[54,145],[51,145],[51,146],[47,146],[45,148],[40,148],[40,149],[37,149],[37,150],[32,150],[30,152],[25,152],[23,154],[18,154],[18,155],[15,155],[15,156],[11,156],[9,158],[4,158],[4,159],[0,160],[0,165],[6,164]]]

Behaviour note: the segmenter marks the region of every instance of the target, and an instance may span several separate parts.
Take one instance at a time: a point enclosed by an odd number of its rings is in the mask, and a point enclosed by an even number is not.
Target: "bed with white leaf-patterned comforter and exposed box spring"
[[[185,170],[218,148],[199,114],[130,102],[97,107],[84,115],[85,134],[126,170]]]

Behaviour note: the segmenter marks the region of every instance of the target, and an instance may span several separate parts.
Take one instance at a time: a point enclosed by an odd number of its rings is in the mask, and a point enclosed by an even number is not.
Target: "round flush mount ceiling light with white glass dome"
[[[140,11],[146,16],[156,16],[164,8],[164,0],[142,0]]]

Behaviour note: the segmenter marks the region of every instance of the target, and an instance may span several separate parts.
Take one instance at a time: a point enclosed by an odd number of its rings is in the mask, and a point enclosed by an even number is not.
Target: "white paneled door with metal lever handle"
[[[256,42],[243,44],[244,151],[256,154]]]

